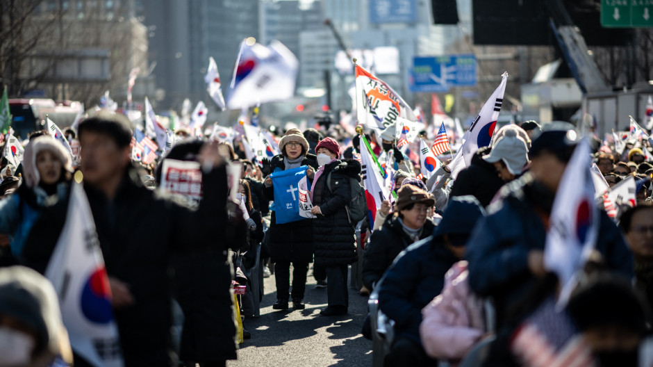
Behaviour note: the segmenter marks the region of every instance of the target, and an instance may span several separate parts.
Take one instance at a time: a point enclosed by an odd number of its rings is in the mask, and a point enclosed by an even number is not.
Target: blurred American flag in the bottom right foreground
[[[513,354],[527,367],[595,366],[590,348],[572,326],[570,318],[556,311],[549,297],[513,335]]]

